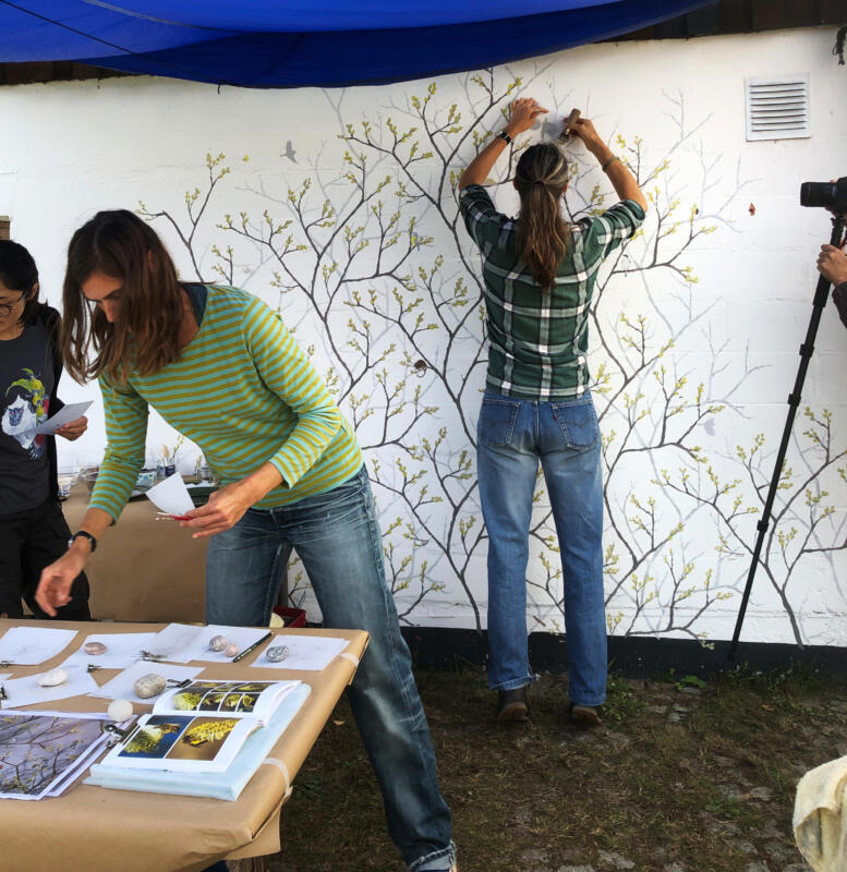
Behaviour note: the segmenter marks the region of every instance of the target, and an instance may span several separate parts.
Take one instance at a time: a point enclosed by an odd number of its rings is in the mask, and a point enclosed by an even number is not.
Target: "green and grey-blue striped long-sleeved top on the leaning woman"
[[[221,484],[270,461],[283,483],[255,508],[330,491],[362,465],[353,428],[278,315],[235,288],[206,286],[178,361],[152,375],[100,377],[108,446],[89,501],[118,519],[144,465],[147,408],[199,446]]]

